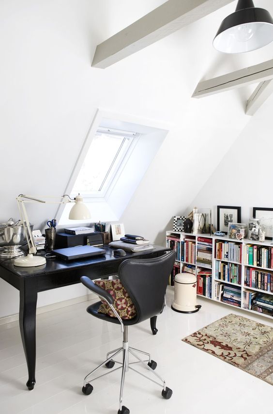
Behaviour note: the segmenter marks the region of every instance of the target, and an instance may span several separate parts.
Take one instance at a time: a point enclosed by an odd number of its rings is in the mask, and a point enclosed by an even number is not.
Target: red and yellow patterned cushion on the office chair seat
[[[136,316],[136,308],[132,299],[126,292],[120,279],[116,280],[95,280],[94,283],[105,289],[114,299],[114,308],[120,315],[121,319],[132,319]],[[101,299],[102,304],[98,312],[116,318],[116,315],[106,301]]]

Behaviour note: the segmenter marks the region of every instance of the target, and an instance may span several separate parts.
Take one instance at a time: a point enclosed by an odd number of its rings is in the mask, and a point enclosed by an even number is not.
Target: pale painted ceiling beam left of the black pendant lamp
[[[96,47],[92,66],[106,68],[233,0],[168,0]]]

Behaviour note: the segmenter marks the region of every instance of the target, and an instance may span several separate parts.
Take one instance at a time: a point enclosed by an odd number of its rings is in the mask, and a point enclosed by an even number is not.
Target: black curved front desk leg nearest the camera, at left
[[[19,325],[23,347],[29,371],[27,387],[33,390],[35,385],[36,363],[36,303],[37,292],[30,281],[23,280],[20,287]]]

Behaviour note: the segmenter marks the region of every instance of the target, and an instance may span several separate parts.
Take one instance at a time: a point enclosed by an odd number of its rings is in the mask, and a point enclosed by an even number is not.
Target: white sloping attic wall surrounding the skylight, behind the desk
[[[0,2],[0,221],[18,217],[19,193],[63,193],[101,108],[172,126],[121,218],[126,231],[163,242],[171,217],[191,203],[249,120],[249,88],[194,100],[197,82],[272,55],[272,46],[246,57],[213,50],[232,3],[105,70],[91,68],[97,44],[163,2]],[[43,229],[56,210],[28,211]],[[2,280],[0,291],[0,317],[17,312],[18,292]],[[84,293],[79,286],[45,292],[38,305]]]

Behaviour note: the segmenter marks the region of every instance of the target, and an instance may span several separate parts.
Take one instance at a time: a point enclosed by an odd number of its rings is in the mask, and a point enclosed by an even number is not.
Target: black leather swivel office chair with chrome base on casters
[[[128,292],[129,296],[131,297],[133,303],[136,307],[136,316],[132,319],[121,319],[120,315],[116,312],[113,303],[114,300],[112,296],[101,287],[94,284],[86,276],[82,276],[80,278],[81,282],[84,286],[88,287],[94,293],[99,295],[103,300],[105,300],[109,306],[111,307],[112,311],[115,313],[116,318],[112,318],[108,315],[98,313],[98,309],[101,305],[101,302],[93,303],[87,308],[87,312],[91,315],[95,316],[96,318],[100,318],[102,320],[106,320],[108,322],[113,323],[120,323],[121,324],[121,332],[123,333],[123,343],[122,347],[116,350],[112,350],[107,353],[106,361],[102,364],[97,366],[93,369],[84,379],[84,384],[82,387],[82,392],[85,395],[90,395],[93,387],[90,384],[91,381],[96,380],[99,377],[93,378],[92,380],[89,378],[91,374],[93,374],[98,368],[102,366],[106,366],[107,368],[112,368],[115,363],[120,364],[116,369],[122,367],[122,374],[121,374],[121,391],[120,391],[120,409],[118,414],[129,414],[130,411],[124,405],[122,405],[122,393],[123,393],[123,384],[124,384],[124,377],[125,372],[128,372],[129,368],[133,371],[137,372],[138,374],[144,376],[148,380],[153,381],[151,378],[146,377],[142,373],[138,372],[134,369],[129,362],[129,354],[132,354],[138,363],[144,365],[148,370],[150,370],[157,379],[163,384],[162,390],[162,397],[168,399],[172,395],[172,390],[166,386],[165,381],[161,378],[157,373],[154,372],[157,364],[156,362],[151,360],[151,356],[147,352],[143,352],[141,350],[136,350],[135,348],[131,348],[128,346],[128,326],[135,325],[136,323],[142,322],[143,320],[149,319],[161,313],[164,300],[165,300],[165,293],[167,288],[167,282],[169,274],[173,268],[174,261],[175,261],[175,252],[168,252],[160,257],[156,257],[153,259],[128,259],[124,260],[120,267],[119,267],[119,279],[122,285],[125,287],[126,291]],[[115,361],[115,358],[119,353],[123,354],[122,363]],[[142,355],[146,355],[149,359],[142,360],[140,359],[136,353],[140,353]],[[145,364],[147,363],[148,364]],[[110,371],[112,372],[112,371]],[[107,373],[108,374],[108,373]],[[103,374],[106,375],[106,374]],[[158,385],[158,382],[156,382]]]

